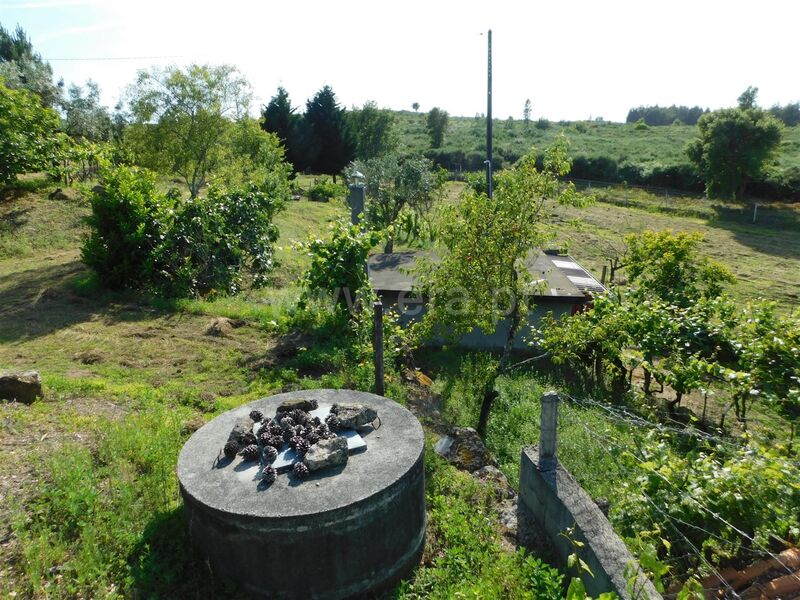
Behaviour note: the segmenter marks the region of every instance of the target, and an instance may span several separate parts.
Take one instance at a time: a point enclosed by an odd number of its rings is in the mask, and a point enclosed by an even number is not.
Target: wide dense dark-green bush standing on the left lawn
[[[111,288],[170,296],[235,293],[245,274],[264,285],[274,267],[272,222],[288,185],[250,185],[184,200],[135,167],[101,169],[83,261]],[[273,193],[270,193],[273,192]]]

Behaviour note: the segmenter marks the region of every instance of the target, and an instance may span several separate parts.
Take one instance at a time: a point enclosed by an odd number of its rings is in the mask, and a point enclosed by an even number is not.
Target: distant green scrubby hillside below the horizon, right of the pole
[[[441,148],[430,147],[424,112],[398,111],[400,147],[422,153],[454,171],[479,171],[486,158],[486,120],[450,117]],[[494,120],[494,163],[502,168],[532,148],[537,153],[563,133],[573,157],[572,176],[631,185],[653,185],[702,192],[703,185],[685,154],[697,135],[694,125],[650,127],[637,123],[604,121],[551,122],[532,119]],[[787,127],[778,166],[761,184],[753,184],[756,196],[800,200],[800,127]]]

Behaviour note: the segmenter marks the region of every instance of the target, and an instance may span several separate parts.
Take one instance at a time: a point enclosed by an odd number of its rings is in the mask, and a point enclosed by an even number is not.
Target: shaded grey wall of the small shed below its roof
[[[414,323],[422,319],[425,314],[425,305],[410,292],[407,294],[397,292],[380,292],[380,299],[383,303],[384,311],[394,309],[400,314],[400,324],[403,326]],[[548,300],[536,304],[534,309],[528,313],[527,323],[523,324],[517,332],[514,340],[514,349],[529,350],[527,341],[530,339],[531,327],[536,327],[547,313],[559,318],[561,315],[571,314],[574,310],[572,300]],[[509,320],[503,319],[497,323],[497,327],[492,333],[486,333],[480,329],[475,329],[461,338],[459,346],[472,348],[475,350],[502,350],[506,344],[508,335]]]

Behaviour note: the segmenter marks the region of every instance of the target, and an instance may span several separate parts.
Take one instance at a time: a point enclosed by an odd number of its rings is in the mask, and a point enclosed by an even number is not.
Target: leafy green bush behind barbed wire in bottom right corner
[[[749,444],[677,456],[653,435],[642,452],[624,459],[639,475],[615,511],[623,535],[667,537],[665,553],[688,555],[693,567],[701,566],[693,546],[722,566],[750,550],[762,553],[773,536],[800,539],[800,469],[776,450]]]

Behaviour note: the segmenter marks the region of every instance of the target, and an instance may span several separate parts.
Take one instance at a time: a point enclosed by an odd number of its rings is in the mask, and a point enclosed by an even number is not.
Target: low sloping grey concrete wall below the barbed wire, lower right
[[[576,551],[589,565],[594,577],[583,573],[581,579],[591,596],[614,591],[625,599],[661,599],[644,575],[639,576],[635,593],[628,592],[626,568],[635,564],[635,559],[598,506],[560,463],[554,470],[540,470],[535,446],[522,450],[519,509],[545,530],[564,565]],[[561,535],[573,526],[575,539],[585,544],[577,550]]]

